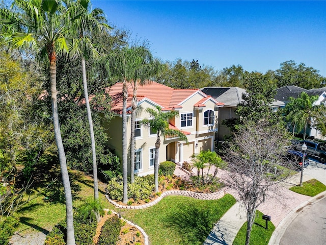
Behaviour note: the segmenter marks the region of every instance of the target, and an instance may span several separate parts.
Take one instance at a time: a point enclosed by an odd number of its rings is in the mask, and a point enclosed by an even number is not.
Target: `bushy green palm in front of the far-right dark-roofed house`
[[[308,124],[311,125],[313,122],[314,111],[319,107],[314,105],[316,100],[318,100],[318,96],[309,96],[306,92],[302,92],[297,99],[291,98],[290,103],[285,107],[288,112],[286,118],[292,121],[293,128],[297,125],[299,130],[304,130],[304,139],[306,139]]]

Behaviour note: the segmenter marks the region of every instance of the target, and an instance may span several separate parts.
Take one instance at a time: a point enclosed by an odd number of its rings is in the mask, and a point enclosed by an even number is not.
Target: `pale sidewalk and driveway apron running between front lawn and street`
[[[323,174],[318,173],[315,175],[312,171],[307,171],[312,176],[304,175],[304,182],[310,179],[318,179],[320,182],[325,182],[326,180],[326,169],[321,167],[320,171],[324,171]],[[318,171],[319,172],[319,171]],[[321,179],[320,179],[321,177]],[[296,217],[296,210],[303,208],[309,202],[321,199],[323,195],[326,195],[326,191],[316,195],[311,198],[306,195],[295,193],[289,188],[291,186],[297,185],[300,182],[300,173],[292,176],[287,182],[283,183],[280,187],[280,192],[282,195],[275,195],[269,193],[270,198],[258,207],[258,210],[262,213],[271,216],[271,222],[276,227],[269,245],[279,244],[285,229]],[[236,199],[236,193],[230,193]],[[242,227],[244,222],[247,220],[247,212],[244,207],[241,207],[239,202],[237,202],[231,209],[229,209],[224,216],[215,224],[214,228],[206,238],[204,245],[232,245],[233,240],[238,233],[239,229]]]

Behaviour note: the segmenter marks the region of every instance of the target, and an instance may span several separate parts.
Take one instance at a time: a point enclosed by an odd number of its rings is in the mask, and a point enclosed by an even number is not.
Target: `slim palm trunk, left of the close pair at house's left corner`
[[[122,178],[123,178],[123,203],[128,202],[128,164],[127,164],[127,98],[128,90],[126,81],[123,82],[122,104]]]

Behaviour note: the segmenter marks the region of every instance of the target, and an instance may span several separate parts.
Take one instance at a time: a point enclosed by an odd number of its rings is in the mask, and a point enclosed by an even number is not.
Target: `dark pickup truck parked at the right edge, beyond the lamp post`
[[[307,145],[306,153],[309,156],[319,159],[321,163],[326,163],[326,142],[317,140],[302,140],[300,144],[295,146],[295,150],[301,150],[301,146],[305,143]]]

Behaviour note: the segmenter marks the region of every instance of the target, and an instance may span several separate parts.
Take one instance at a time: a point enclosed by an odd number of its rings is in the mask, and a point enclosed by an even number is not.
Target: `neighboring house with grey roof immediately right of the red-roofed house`
[[[239,103],[243,102],[242,94],[246,93],[246,89],[239,88],[239,87],[204,87],[201,88],[201,91],[211,95],[214,99],[218,100],[219,102],[224,103],[224,106],[220,108],[219,113],[219,130],[218,130],[218,139],[220,141],[224,141],[225,135],[230,135],[231,131],[229,127],[223,125],[223,120],[227,120],[230,118],[239,118],[236,115],[235,110]],[[270,108],[273,111],[277,111],[280,107],[284,106],[285,104],[281,101],[274,100],[273,103],[270,105]]]

